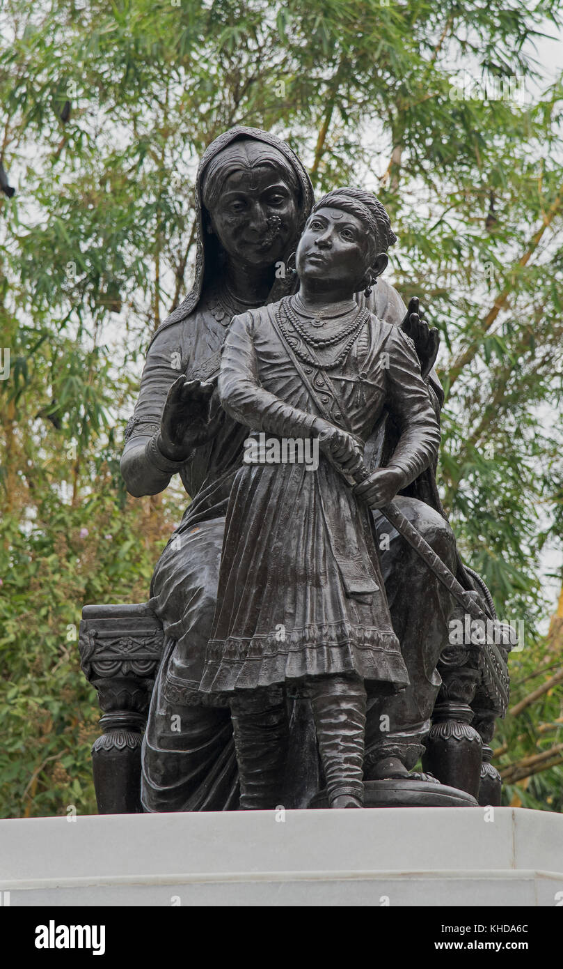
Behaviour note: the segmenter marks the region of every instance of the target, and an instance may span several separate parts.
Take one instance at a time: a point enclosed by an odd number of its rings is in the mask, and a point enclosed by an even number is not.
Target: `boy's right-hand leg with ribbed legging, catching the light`
[[[366,689],[355,676],[309,681],[314,725],[331,807],[361,807],[364,798]]]

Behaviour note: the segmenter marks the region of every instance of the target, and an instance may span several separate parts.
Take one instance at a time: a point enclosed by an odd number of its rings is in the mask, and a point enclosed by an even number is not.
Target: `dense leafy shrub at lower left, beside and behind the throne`
[[[81,606],[144,601],[163,542],[139,538],[145,510],[131,503],[124,514],[107,465],[79,504],[61,501],[51,481],[34,512],[25,522],[4,517],[1,529],[2,813],[60,814],[70,804],[95,813],[100,710],[79,669]]]

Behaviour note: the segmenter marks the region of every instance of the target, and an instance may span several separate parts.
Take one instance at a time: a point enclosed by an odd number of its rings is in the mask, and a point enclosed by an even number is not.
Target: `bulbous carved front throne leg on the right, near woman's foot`
[[[481,778],[481,736],[471,726],[470,703],[480,678],[474,651],[449,646],[438,663],[442,686],[432,714],[423,767],[442,784],[477,798]]]

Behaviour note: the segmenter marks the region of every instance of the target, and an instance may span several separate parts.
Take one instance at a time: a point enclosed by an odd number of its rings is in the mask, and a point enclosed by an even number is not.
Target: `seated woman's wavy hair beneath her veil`
[[[281,172],[292,192],[301,204],[301,188],[297,173],[281,151],[272,145],[251,138],[232,141],[223,148],[207,165],[203,172],[201,197],[205,208],[215,208],[221,199],[227,178],[236,172],[252,172],[252,169],[269,166]]]

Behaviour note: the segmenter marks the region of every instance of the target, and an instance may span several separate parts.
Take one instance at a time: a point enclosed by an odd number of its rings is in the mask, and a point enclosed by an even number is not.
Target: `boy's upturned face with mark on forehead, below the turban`
[[[350,292],[357,293],[370,268],[365,226],[341,208],[317,209],[299,240],[295,265],[301,279],[349,283]]]

